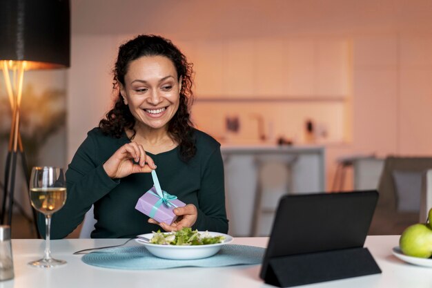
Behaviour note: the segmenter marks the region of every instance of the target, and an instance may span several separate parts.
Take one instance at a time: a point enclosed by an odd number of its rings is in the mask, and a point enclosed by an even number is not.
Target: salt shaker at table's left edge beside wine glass
[[[14,278],[10,227],[0,225],[0,281]]]

